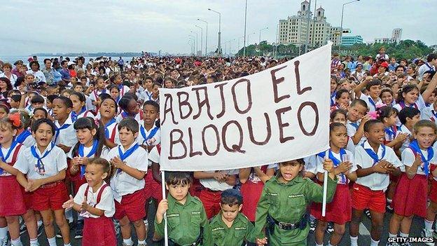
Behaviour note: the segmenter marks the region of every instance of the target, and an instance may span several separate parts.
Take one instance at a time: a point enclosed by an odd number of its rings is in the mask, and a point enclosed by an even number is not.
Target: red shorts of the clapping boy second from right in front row
[[[366,186],[354,184],[352,189],[352,207],[356,210],[369,210],[385,212],[385,193],[384,191],[372,191]]]

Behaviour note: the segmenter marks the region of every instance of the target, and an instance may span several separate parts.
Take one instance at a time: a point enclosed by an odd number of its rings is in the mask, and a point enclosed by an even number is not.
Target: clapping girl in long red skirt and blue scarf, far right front
[[[397,237],[400,229],[400,236],[408,238],[412,217],[426,217],[428,175],[431,163],[437,161],[431,146],[436,139],[437,126],[422,120],[415,123],[413,130],[415,139],[402,151],[403,172],[393,197],[389,237]]]

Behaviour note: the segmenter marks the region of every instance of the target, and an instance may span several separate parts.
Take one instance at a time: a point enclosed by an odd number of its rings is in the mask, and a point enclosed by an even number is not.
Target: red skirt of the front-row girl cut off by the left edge
[[[26,213],[25,198],[14,175],[0,177],[0,217]]]

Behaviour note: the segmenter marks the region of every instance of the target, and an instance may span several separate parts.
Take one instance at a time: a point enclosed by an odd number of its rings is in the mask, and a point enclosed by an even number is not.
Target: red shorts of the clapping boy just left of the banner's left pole
[[[146,197],[144,196],[144,189],[135,191],[132,194],[127,194],[121,197],[121,203],[116,201],[115,219],[123,219],[127,216],[130,221],[137,221],[146,217]]]

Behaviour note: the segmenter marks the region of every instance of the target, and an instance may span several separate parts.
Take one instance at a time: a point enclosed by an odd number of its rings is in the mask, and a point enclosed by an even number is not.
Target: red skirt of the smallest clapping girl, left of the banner
[[[83,246],[116,246],[116,230],[108,217],[85,218],[83,225]]]

